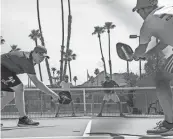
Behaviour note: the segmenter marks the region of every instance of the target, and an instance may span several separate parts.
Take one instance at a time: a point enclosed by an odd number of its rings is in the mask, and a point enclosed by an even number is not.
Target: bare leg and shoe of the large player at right
[[[170,87],[170,76],[163,76],[162,73],[156,74],[156,92],[159,103],[163,109],[165,119],[157,125],[157,128],[148,130],[147,133],[166,133],[173,128],[173,101],[172,89]],[[162,80],[158,80],[158,78]]]

